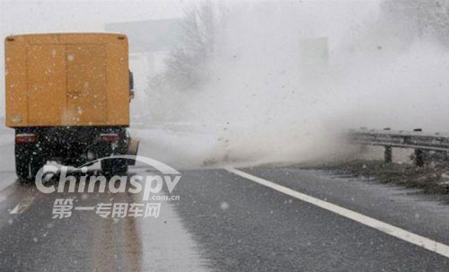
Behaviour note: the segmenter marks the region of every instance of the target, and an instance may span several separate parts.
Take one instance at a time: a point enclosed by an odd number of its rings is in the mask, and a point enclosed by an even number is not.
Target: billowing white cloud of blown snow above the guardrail
[[[446,48],[395,35],[377,1],[194,5],[198,47],[173,52],[150,91],[154,119],[191,132],[162,160],[304,162],[339,154],[350,127],[445,124]]]

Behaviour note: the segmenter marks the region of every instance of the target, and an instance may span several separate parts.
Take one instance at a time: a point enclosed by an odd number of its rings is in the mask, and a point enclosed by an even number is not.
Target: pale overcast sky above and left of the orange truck
[[[11,34],[104,31],[107,22],[180,17],[182,0],[2,1],[0,0],[0,116],[4,115],[4,38]]]

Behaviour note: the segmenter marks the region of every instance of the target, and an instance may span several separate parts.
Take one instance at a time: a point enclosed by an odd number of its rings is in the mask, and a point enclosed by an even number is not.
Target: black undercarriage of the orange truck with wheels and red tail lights
[[[81,166],[114,154],[127,154],[127,127],[17,127],[15,165],[20,180],[31,181],[48,161]],[[101,160],[106,175],[126,173],[125,159]]]

